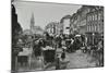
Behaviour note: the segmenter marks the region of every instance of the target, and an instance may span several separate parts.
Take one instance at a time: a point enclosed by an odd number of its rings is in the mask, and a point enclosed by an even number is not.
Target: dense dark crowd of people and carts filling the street
[[[41,63],[41,66],[38,65],[38,69],[45,69],[44,65],[49,62],[56,65],[56,70],[66,69],[66,63],[70,62],[69,60],[65,60],[66,53],[74,53],[76,50],[82,50],[84,53],[88,53],[96,58],[98,61],[97,65],[102,65],[104,62],[102,39],[100,39],[96,46],[87,46],[84,35],[75,35],[71,37],[68,35],[52,36],[46,34],[45,38],[35,38],[31,45],[25,46],[32,48],[32,57],[36,58],[36,60]],[[62,51],[58,53],[58,49],[61,49]],[[23,51],[23,49],[21,51]]]

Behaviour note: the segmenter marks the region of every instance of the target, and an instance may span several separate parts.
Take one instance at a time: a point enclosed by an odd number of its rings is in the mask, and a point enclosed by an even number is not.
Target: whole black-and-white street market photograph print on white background
[[[104,66],[104,5],[11,1],[11,72]]]

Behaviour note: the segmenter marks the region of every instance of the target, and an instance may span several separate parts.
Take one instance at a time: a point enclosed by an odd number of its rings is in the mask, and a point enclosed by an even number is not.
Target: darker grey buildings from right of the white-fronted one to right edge
[[[88,42],[104,38],[104,7],[83,5],[71,16],[70,34],[83,34]]]

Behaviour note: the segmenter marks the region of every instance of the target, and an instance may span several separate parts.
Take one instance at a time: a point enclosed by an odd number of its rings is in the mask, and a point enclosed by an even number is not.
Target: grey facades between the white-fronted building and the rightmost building
[[[80,8],[76,13],[74,13],[71,17],[71,34],[77,32],[78,34],[85,34],[86,32],[86,14],[90,11],[90,9],[86,5]]]

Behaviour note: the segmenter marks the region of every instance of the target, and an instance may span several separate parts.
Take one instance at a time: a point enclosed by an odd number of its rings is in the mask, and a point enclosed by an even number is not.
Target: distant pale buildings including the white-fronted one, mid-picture
[[[46,32],[52,35],[70,34],[70,17],[63,16],[59,22],[50,22],[46,26]]]

